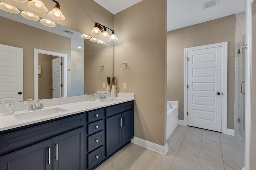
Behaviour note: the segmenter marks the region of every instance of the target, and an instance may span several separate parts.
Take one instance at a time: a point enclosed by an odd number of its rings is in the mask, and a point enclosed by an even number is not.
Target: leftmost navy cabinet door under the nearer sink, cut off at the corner
[[[52,140],[0,157],[1,170],[51,170]],[[49,157],[50,156],[50,157]]]

